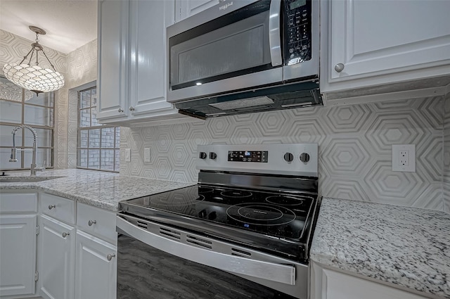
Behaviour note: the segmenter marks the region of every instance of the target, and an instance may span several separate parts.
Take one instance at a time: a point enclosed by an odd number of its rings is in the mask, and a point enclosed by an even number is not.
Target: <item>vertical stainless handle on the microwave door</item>
[[[272,66],[281,65],[281,0],[272,0],[269,8],[269,46]]]

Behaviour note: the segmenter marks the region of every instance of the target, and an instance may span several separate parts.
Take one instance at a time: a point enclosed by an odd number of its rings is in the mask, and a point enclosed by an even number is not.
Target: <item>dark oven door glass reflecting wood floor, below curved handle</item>
[[[118,299],[296,299],[219,269],[184,260],[120,234]]]

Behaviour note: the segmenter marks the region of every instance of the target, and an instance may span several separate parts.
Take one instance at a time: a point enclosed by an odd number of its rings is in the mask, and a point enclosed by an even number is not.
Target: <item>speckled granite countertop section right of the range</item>
[[[450,215],[323,198],[311,260],[450,298]]]

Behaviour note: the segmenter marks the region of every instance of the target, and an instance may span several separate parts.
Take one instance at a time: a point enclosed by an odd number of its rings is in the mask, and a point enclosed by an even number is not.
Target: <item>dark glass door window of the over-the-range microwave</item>
[[[269,4],[258,2],[171,37],[171,89],[272,68]]]

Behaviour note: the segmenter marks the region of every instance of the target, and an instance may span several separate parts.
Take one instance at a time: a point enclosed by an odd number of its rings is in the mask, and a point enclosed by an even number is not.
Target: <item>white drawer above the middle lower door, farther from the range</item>
[[[75,224],[75,201],[71,199],[42,193],[39,210],[57,220]]]

